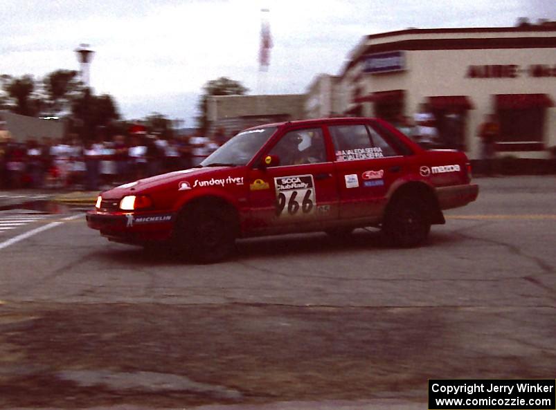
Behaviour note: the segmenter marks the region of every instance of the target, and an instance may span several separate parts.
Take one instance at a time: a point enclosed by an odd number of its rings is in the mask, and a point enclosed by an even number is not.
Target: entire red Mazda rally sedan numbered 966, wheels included
[[[470,179],[465,153],[426,151],[383,120],[283,122],[238,133],[198,167],[102,192],[87,224],[202,262],[227,257],[236,238],[367,226],[409,247],[445,223],[443,209],[477,198]]]

